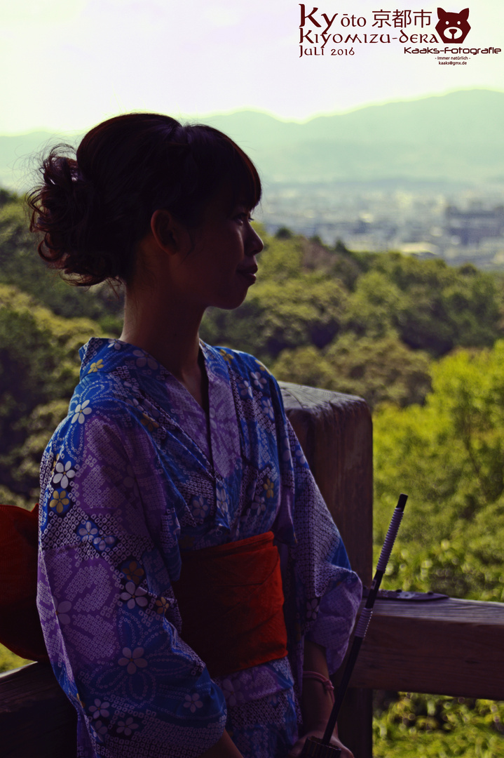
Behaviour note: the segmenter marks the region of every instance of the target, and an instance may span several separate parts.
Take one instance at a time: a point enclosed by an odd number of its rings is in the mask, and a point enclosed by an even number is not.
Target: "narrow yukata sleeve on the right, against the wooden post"
[[[328,669],[334,673],[344,659],[362,597],[362,584],[350,568],[343,540],[320,493],[303,449],[285,416],[277,387],[278,446],[282,451],[282,486],[291,493],[297,543],[289,550],[290,576],[285,581],[286,615],[297,644],[300,676],[303,639],[326,648]],[[289,630],[288,630],[289,631]]]

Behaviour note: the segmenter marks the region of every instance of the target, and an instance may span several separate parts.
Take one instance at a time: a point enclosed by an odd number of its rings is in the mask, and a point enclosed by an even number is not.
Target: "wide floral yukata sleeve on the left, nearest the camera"
[[[149,435],[127,412],[85,400],[54,434],[41,484],[37,605],[77,709],[79,758],[201,755],[226,706],[179,637],[153,534],[176,544],[176,515]]]

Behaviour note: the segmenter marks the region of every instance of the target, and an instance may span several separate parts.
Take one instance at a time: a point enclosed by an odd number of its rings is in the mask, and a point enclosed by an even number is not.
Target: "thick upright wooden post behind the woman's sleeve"
[[[372,581],[372,421],[362,398],[280,382],[285,411],[352,568]],[[372,691],[350,688],[338,730],[355,758],[372,756]]]

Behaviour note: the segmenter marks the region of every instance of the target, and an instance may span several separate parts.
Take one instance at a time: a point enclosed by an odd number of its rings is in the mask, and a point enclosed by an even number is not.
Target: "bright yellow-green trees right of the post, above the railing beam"
[[[409,493],[390,586],[504,600],[504,341],[432,368],[425,406],[375,414],[375,531]]]

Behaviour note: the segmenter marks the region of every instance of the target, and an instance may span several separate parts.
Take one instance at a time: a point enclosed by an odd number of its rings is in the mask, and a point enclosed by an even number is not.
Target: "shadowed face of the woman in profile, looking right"
[[[250,208],[238,201],[230,210],[227,194],[222,191],[210,200],[191,233],[192,249],[174,271],[188,302],[203,308],[238,308],[256,280],[255,256],[263,249],[250,226]]]

